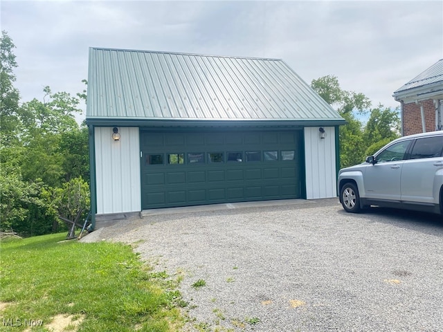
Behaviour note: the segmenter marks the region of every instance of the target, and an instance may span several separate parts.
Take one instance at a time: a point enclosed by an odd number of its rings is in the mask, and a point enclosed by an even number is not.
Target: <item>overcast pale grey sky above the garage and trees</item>
[[[373,106],[443,58],[443,1],[5,1],[23,102],[75,95],[89,47],[283,59],[308,84],[335,75]]]

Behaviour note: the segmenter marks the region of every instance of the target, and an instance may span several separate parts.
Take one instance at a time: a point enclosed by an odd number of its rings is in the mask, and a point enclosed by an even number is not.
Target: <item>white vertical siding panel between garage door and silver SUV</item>
[[[325,127],[320,139],[318,127],[305,128],[305,163],[307,199],[336,196],[335,129]]]

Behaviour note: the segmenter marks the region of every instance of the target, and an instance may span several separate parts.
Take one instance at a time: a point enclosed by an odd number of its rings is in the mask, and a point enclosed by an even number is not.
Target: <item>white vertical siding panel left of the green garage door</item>
[[[120,127],[120,141],[112,128],[96,127],[97,213],[141,210],[140,142],[138,128]]]

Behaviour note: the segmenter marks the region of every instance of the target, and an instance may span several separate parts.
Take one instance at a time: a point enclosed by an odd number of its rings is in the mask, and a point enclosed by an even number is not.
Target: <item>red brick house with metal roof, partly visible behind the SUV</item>
[[[401,104],[401,134],[443,130],[443,59],[397,89]]]

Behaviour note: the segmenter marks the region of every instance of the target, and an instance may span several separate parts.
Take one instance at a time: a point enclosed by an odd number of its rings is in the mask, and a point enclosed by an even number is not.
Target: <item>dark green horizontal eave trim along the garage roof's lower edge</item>
[[[125,118],[87,118],[87,124],[96,127],[316,127],[345,124],[340,119],[314,120],[185,120],[185,119],[125,119]]]

